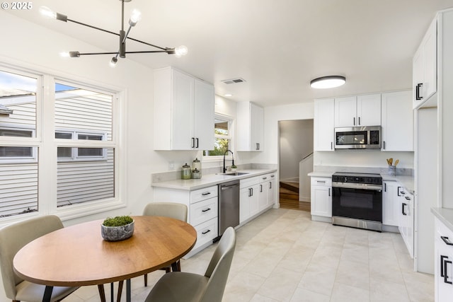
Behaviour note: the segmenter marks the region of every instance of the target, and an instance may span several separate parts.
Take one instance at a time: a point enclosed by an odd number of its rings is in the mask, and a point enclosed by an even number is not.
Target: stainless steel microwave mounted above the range
[[[335,128],[335,149],[381,149],[381,126]]]

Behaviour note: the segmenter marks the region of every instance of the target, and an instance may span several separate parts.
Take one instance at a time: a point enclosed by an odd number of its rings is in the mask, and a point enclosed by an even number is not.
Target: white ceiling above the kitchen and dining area
[[[117,36],[47,20],[38,8],[48,6],[75,21],[118,32],[120,1],[32,3],[33,10],[7,12],[117,51]],[[132,0],[125,4],[126,19],[137,8],[142,21],[130,37],[162,47],[186,45],[189,53],[179,59],[168,54],[127,58],[152,69],[176,66],[214,83],[218,95],[232,93],[232,100],[263,106],[394,91],[411,88],[413,53],[436,11],[449,7],[453,0]],[[72,50],[91,51],[78,45]],[[127,50],[151,47],[127,41]],[[330,90],[309,87],[311,79],[327,75],[346,76],[347,82]],[[246,83],[221,82],[236,77]]]

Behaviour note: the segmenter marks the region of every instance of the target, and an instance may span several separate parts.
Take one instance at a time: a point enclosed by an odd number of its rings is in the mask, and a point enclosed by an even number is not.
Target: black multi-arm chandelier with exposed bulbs
[[[142,18],[142,14],[135,9],[134,9],[134,11],[132,11],[131,16],[129,18],[129,28],[127,29],[127,32],[126,32],[124,30],[125,2],[130,2],[131,0],[120,0],[120,1],[121,1],[121,30],[120,30],[120,33],[114,33],[110,30],[104,30],[102,28],[98,28],[93,25],[88,25],[86,23],[81,23],[79,21],[71,20],[66,15],[63,15],[62,13],[55,13],[54,11],[52,11],[50,8],[48,8],[46,6],[40,7],[40,13],[43,16],[46,16],[48,18],[54,18],[54,19],[57,19],[59,21],[64,21],[64,22],[69,21],[72,23],[77,23],[79,25],[84,25],[88,28],[101,30],[105,33],[111,33],[113,35],[117,35],[118,37],[120,37],[120,47],[117,52],[84,52],[84,53],[83,52],[64,52],[61,54],[62,57],[74,58],[74,57],[80,57],[80,56],[92,55],[92,54],[114,54],[115,56],[112,57],[112,59],[110,60],[110,66],[115,66],[115,64],[118,61],[118,57],[125,58],[126,54],[144,54],[144,53],[154,53],[154,52],[166,52],[167,54],[174,54],[176,57],[181,57],[181,56],[187,54],[188,50],[187,50],[187,47],[185,47],[184,45],[181,45],[180,47],[173,47],[173,48],[160,47],[160,46],[152,45],[151,43],[143,42],[143,41],[134,39],[132,37],[129,37],[131,28],[133,26],[135,26],[137,24],[137,22],[140,21],[140,19]],[[133,40],[135,42],[139,42],[144,45],[154,47],[157,50],[145,50],[145,51],[140,51],[140,52],[126,52],[126,39]]]

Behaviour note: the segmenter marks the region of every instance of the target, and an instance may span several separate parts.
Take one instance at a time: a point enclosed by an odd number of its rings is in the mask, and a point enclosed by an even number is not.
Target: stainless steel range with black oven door
[[[332,223],[382,231],[382,177],[369,173],[332,175]]]

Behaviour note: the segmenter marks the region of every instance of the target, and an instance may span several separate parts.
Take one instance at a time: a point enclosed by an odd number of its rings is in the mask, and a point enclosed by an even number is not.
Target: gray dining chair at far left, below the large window
[[[40,216],[0,229],[0,269],[6,297],[13,302],[41,302],[45,286],[25,281],[13,270],[16,252],[31,241],[63,228],[59,217]],[[61,301],[79,287],[55,286],[50,301]]]

